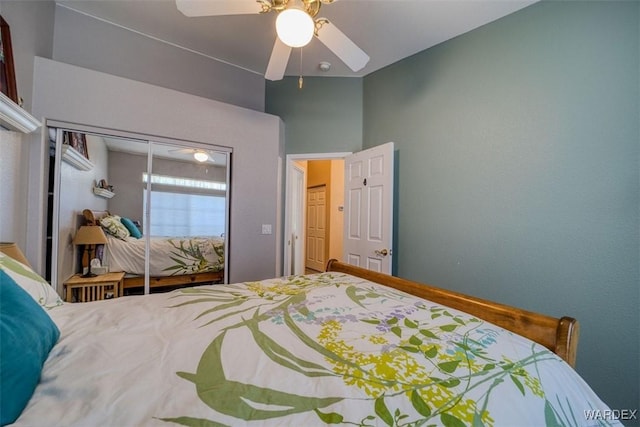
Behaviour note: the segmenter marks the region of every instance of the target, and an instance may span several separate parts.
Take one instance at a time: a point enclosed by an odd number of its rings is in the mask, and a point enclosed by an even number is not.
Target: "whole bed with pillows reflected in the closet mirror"
[[[87,225],[102,225],[105,229],[112,225],[105,221],[114,217],[108,211],[90,209],[85,209],[82,214]],[[116,225],[118,221],[121,218],[115,220]],[[129,230],[135,231],[132,226],[128,227],[127,231]],[[120,228],[107,230],[102,262],[111,272],[126,273],[123,289],[142,287],[145,239],[126,233],[118,234],[119,231]],[[219,236],[152,237],[149,255],[150,288],[221,283],[224,280],[224,245],[224,238]]]

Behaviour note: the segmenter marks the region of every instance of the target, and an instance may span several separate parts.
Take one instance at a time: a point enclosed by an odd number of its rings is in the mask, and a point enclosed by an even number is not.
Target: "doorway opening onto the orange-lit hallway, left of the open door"
[[[287,156],[285,203],[285,274],[304,274],[324,271],[330,258],[342,258],[344,236],[344,158],[351,153],[296,154]],[[308,212],[309,191],[316,193],[323,187],[325,206],[322,212],[326,224],[324,241],[307,231],[309,217],[316,220],[317,204]],[[317,223],[317,221],[316,221]],[[309,249],[311,246],[311,250]],[[321,251],[321,253],[318,253]],[[309,263],[309,255],[315,263]],[[320,256],[319,256],[320,255]],[[318,264],[318,262],[320,264]]]

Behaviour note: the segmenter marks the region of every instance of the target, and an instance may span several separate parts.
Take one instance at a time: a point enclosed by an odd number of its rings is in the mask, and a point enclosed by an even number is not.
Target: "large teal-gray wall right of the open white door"
[[[398,274],[576,317],[617,409],[640,401],[639,17],[542,2],[364,80],[363,145],[399,156]]]

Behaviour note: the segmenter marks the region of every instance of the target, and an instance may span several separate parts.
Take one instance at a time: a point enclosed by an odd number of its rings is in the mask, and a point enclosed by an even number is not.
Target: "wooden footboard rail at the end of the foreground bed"
[[[332,259],[327,271],[351,274],[464,311],[535,341],[575,367],[580,325],[571,317],[555,318],[520,308],[366,270]]]

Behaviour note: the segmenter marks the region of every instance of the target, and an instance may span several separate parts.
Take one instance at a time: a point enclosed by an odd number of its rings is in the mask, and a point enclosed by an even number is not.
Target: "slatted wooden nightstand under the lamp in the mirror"
[[[65,301],[89,302],[122,296],[124,272],[105,273],[95,277],[76,274],[64,282]]]

